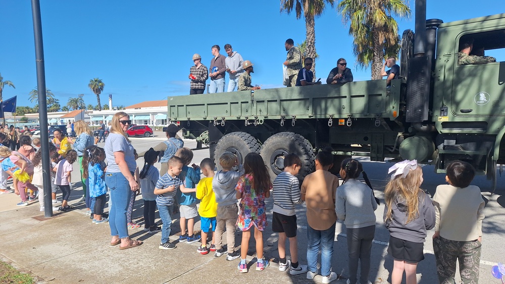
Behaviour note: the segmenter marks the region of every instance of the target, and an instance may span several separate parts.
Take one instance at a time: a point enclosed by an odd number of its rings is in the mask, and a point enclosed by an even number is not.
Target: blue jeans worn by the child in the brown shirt
[[[321,248],[321,275],[328,276],[331,271],[333,256],[333,240],[335,239],[335,223],[324,231],[314,230],[307,226],[307,264],[309,271],[317,272],[317,258]]]

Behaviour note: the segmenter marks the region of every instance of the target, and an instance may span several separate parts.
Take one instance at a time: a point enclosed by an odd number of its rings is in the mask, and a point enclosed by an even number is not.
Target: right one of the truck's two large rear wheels
[[[316,155],[311,143],[294,132],[281,132],[270,136],[263,143],[261,150],[261,156],[272,180],[284,171],[284,157],[290,153],[295,153],[301,159],[301,169],[298,174],[300,181],[314,171]]]

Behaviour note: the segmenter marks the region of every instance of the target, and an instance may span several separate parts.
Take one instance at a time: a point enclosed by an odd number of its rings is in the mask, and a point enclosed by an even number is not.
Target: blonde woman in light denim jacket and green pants
[[[84,199],[86,200],[86,214],[91,214],[91,210],[89,209],[91,205],[91,198],[89,198],[89,189],[86,186],[87,179],[82,178],[82,155],[86,147],[93,146],[93,132],[91,132],[91,128],[89,128],[88,124],[83,120],[75,122],[74,130],[77,135],[77,139],[75,139],[75,141],[70,139],[69,142],[74,146],[74,149],[77,152],[77,161],[81,171],[82,192]]]

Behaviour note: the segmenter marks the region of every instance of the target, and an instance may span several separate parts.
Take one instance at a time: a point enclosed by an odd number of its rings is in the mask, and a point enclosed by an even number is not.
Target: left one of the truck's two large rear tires
[[[222,169],[219,164],[219,157],[226,151],[235,153],[238,160],[243,163],[244,158],[248,153],[259,153],[260,152],[260,142],[258,139],[252,137],[250,134],[245,132],[232,132],[219,139],[216,144],[216,150],[214,151],[214,158],[216,161],[216,166],[218,171]]]

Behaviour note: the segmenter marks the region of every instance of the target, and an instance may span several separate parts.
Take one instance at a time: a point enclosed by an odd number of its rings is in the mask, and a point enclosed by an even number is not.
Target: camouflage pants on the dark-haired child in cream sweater
[[[456,261],[460,264],[462,283],[479,283],[479,263],[482,244],[479,241],[459,242],[438,237],[433,240],[438,280],[441,284],[456,284]]]

